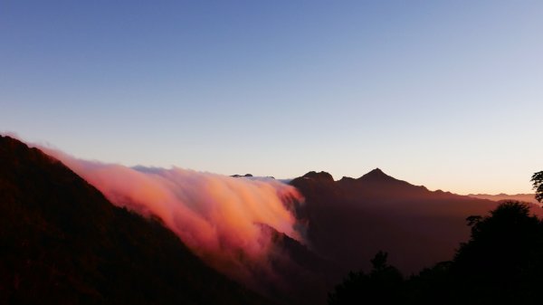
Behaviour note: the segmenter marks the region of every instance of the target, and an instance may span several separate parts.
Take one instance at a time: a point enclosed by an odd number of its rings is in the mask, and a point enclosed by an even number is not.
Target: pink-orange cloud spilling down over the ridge
[[[39,147],[61,160],[114,205],[156,215],[196,255],[239,281],[270,272],[270,230],[301,240],[292,204],[302,200],[277,180],[235,178],[178,167],[124,167]]]

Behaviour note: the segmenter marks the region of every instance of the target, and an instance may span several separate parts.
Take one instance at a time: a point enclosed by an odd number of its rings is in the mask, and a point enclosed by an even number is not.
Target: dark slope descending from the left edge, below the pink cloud
[[[113,206],[36,148],[0,138],[1,304],[267,304],[157,220]]]

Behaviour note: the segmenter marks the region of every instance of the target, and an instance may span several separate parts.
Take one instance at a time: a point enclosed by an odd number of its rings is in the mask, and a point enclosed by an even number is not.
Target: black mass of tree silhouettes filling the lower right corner
[[[451,262],[439,262],[407,281],[376,253],[368,274],[351,272],[329,304],[541,304],[543,222],[529,205],[505,202],[470,216],[471,238]]]

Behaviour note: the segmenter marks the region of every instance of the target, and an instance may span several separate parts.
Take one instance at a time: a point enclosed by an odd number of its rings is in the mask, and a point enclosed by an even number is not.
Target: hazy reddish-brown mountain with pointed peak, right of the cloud
[[[348,270],[368,270],[378,251],[407,274],[451,260],[470,234],[466,217],[486,214],[489,200],[430,191],[376,168],[334,181],[310,172],[291,181],[306,198],[297,216],[308,224],[311,249]],[[534,209],[540,213],[541,209]]]

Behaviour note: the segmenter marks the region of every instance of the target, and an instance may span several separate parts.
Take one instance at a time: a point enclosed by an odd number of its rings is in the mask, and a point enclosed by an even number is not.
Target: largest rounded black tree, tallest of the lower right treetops
[[[536,304],[543,285],[543,224],[529,206],[506,202],[471,218],[472,237],[452,262],[456,303]]]

